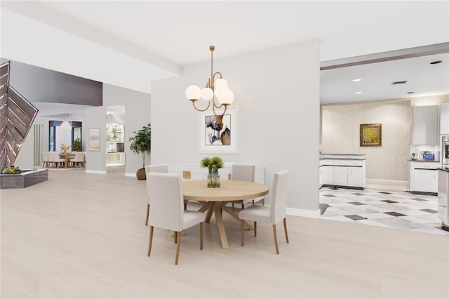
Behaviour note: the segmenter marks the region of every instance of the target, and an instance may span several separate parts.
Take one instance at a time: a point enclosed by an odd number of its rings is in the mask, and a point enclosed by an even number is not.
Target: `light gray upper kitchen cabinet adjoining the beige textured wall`
[[[438,145],[438,106],[413,107],[412,145]]]

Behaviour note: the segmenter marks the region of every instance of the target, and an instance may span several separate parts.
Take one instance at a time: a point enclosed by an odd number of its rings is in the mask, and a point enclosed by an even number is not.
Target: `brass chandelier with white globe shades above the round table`
[[[197,111],[203,112],[206,111],[210,104],[212,103],[213,114],[216,116],[222,116],[225,114],[227,106],[231,105],[234,102],[234,93],[227,87],[227,81],[223,79],[222,74],[220,72],[213,72],[213,51],[215,50],[215,46],[209,46],[210,50],[210,78],[206,83],[206,87],[199,88],[196,85],[191,85],[187,87],[185,91],[185,95],[187,99],[192,101],[194,108]],[[215,80],[216,76],[220,76]],[[208,105],[204,109],[198,109],[195,105],[197,100],[205,100],[208,102]],[[215,109],[220,109],[221,107],[225,107],[222,113],[217,113]]]

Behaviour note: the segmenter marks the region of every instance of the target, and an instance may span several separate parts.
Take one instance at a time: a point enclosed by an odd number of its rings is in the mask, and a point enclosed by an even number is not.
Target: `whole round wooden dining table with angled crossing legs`
[[[222,180],[220,187],[210,188],[207,186],[207,180],[185,180],[182,182],[182,193],[185,200],[198,201],[203,205],[199,211],[206,214],[206,222],[210,221],[212,215],[215,215],[218,234],[223,249],[229,248],[226,237],[225,225],[223,225],[222,211],[240,222],[239,214],[232,211],[232,208],[226,206],[229,202],[240,201],[242,199],[255,199],[262,197],[269,192],[269,187],[257,182],[246,182],[243,180]],[[253,227],[249,224],[250,229]]]

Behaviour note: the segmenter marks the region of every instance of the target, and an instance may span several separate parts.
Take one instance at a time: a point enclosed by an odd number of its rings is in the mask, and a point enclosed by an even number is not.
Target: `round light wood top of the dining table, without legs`
[[[182,192],[187,200],[239,201],[262,197],[268,194],[269,187],[257,182],[221,180],[220,187],[209,188],[207,180],[185,180],[182,182]]]

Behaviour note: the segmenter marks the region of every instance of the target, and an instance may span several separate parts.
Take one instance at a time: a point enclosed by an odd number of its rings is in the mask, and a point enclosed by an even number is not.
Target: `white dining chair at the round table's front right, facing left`
[[[241,246],[245,243],[245,220],[254,221],[254,237],[257,236],[257,222],[268,222],[273,225],[274,246],[276,253],[279,254],[278,239],[276,236],[276,224],[283,220],[283,229],[287,233],[287,187],[288,187],[288,171],[279,171],[274,173],[272,190],[270,190],[271,201],[270,206],[253,205],[244,208],[239,212],[241,220]]]

